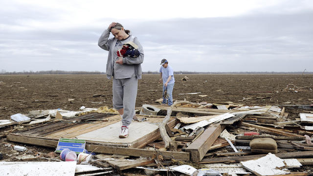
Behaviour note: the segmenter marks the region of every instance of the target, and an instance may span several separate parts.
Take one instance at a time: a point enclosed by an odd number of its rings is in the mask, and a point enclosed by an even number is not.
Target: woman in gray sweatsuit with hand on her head
[[[114,38],[110,38],[110,32]],[[140,55],[138,57],[118,57],[117,51],[127,42],[137,44]],[[107,78],[113,77],[113,108],[122,117],[120,138],[128,137],[129,125],[135,115],[138,79],[141,79],[141,63],[143,62],[143,48],[138,39],[129,30],[117,22],[112,22],[102,33],[98,45],[109,51],[107,61]]]

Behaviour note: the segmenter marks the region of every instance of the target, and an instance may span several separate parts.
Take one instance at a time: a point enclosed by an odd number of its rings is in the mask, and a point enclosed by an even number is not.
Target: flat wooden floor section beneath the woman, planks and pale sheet
[[[90,121],[91,119],[93,120]],[[80,138],[86,139],[86,141],[95,144],[114,145],[120,147],[129,146],[132,148],[142,148],[160,137],[158,127],[155,124],[161,122],[163,120],[162,117],[147,118],[147,122],[132,122],[130,126],[130,136],[126,139],[118,138],[120,120],[120,115],[92,113],[75,118],[69,118],[67,121],[55,121],[45,125],[37,125],[29,128],[28,130],[17,133],[24,135],[25,137],[40,136],[52,139],[59,139],[61,137]],[[176,125],[176,120],[171,118],[167,125],[170,128],[174,127]],[[152,126],[155,127],[153,128]],[[103,129],[105,130],[103,131]],[[15,138],[16,137],[17,136],[15,136]]]

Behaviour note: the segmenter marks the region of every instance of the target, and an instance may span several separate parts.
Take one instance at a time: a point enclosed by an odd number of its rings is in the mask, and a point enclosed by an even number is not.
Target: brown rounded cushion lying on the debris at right
[[[250,141],[250,147],[252,149],[264,149],[277,151],[277,143],[272,138],[256,138]]]

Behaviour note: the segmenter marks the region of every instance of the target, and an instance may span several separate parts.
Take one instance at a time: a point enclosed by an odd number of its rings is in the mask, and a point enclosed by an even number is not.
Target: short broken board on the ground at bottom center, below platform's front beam
[[[134,168],[134,167],[138,167],[138,166],[145,166],[147,164],[154,163],[155,160],[154,159],[147,159],[147,158],[123,159],[123,160],[113,159],[113,160],[108,160],[107,162],[113,168],[121,171],[121,170]]]

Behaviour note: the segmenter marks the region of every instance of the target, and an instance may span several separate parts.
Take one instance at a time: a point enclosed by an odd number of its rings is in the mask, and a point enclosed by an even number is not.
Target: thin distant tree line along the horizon
[[[19,75],[19,74],[106,74],[101,71],[63,71],[63,70],[48,70],[48,71],[14,71],[6,72],[4,69],[0,71],[0,74]],[[158,71],[144,71],[142,74],[160,74]],[[313,74],[313,72],[196,72],[196,71],[174,71],[174,74]]]

